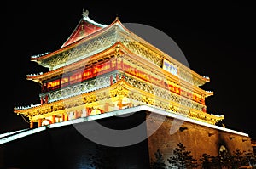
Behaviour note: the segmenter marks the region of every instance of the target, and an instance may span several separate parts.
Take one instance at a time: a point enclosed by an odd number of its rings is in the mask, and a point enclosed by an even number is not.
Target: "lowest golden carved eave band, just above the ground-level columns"
[[[160,94],[161,96],[158,96],[153,93],[148,93],[141,88],[132,86],[129,82],[126,82],[125,78],[122,78],[119,82],[114,83],[110,87],[104,87],[97,91],[84,93],[49,104],[42,104],[26,110],[14,110],[14,112],[16,114],[25,115],[29,117],[30,120],[37,121],[39,118],[42,119],[49,115],[61,115],[73,110],[101,106],[101,104],[107,102],[113,103],[119,99],[126,98],[131,100],[132,106],[136,106],[137,104],[135,103],[148,104],[170,113],[184,115],[210,124],[215,124],[217,121],[224,119],[223,116],[209,115],[200,110],[191,109],[183,104],[177,104],[168,98],[162,97],[162,94],[163,93]]]

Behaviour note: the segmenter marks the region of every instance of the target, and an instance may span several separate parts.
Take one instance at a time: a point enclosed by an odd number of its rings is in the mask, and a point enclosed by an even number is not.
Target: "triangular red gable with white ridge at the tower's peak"
[[[77,42],[80,39],[87,37],[91,33],[102,29],[103,27],[107,27],[107,25],[102,25],[97,23],[94,20],[91,20],[88,16],[89,11],[83,10],[83,18],[79,21],[79,24],[73,30],[72,34],[67,38],[67,41],[61,46],[61,48],[66,47],[67,45]]]

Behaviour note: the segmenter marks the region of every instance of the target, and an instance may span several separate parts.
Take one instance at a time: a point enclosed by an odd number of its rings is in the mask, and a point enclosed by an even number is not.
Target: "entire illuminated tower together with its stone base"
[[[82,15],[61,48],[31,57],[49,68],[27,75],[42,87],[40,103],[14,109],[29,118],[30,128],[0,134],[0,167],[88,168],[99,143],[84,139],[73,125],[94,134],[91,128],[97,126],[91,121],[116,130],[143,128],[139,135],[147,137],[142,142],[101,151],[103,156],[108,152],[107,159],[113,154],[117,168],[149,168],[158,149],[167,161],[178,143],[197,160],[203,153],[219,155],[223,148],[253,152],[255,142],[247,133],[219,127],[224,116],[207,112],[205,99],[213,93],[201,86],[208,77],[138,37],[118,18],[102,25],[88,11]],[[128,116],[115,118],[119,115]],[[177,131],[171,133],[173,128]],[[121,137],[108,138],[119,144]],[[42,162],[45,157],[55,160]]]

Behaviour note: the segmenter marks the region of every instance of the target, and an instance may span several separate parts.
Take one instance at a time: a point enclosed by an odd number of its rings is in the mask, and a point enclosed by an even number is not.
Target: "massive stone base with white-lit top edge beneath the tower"
[[[93,121],[119,131],[142,125],[138,134],[145,136],[145,139],[123,147],[102,146],[77,130],[79,126],[89,133],[98,132]],[[0,168],[90,168],[90,156],[96,154],[104,157],[104,163],[113,162],[116,168],[148,169],[157,149],[166,160],[178,143],[186,146],[197,160],[204,153],[218,155],[222,145],[229,153],[236,149],[253,151],[251,138],[246,133],[175,116],[148,106],[85,117],[84,122],[77,125],[49,125],[41,132],[0,144]],[[129,136],[124,137],[129,139]]]

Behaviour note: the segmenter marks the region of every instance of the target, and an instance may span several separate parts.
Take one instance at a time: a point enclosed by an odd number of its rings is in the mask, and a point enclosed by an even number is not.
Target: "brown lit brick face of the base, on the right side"
[[[221,145],[224,145],[230,153],[236,149],[246,152],[253,151],[251,138],[246,136],[204,127],[188,121],[178,121],[170,117],[166,117],[162,121],[160,115],[149,115],[149,113],[147,119],[148,135],[154,132],[156,126],[160,125],[158,130],[148,137],[149,160],[154,159],[157,149],[160,149],[164,158],[167,159],[172,156],[173,149],[177,147],[178,143],[186,146],[186,149],[191,151],[190,155],[197,160],[203,153],[218,155]],[[173,127],[177,127],[177,130],[170,133]]]

